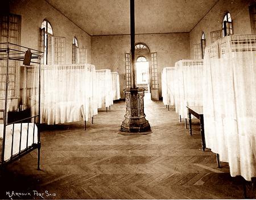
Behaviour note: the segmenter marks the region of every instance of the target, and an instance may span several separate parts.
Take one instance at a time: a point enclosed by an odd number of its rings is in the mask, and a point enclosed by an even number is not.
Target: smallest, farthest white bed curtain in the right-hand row
[[[164,67],[162,73],[162,96],[164,105],[174,105],[175,67]]]

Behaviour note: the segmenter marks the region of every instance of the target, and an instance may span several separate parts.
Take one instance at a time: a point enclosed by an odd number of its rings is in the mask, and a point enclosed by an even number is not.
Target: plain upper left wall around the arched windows
[[[88,49],[88,63],[91,58],[90,36],[82,31],[63,14],[44,0],[10,0],[10,12],[22,16],[21,44],[39,49],[39,27],[44,19],[49,20],[53,28],[53,36],[66,38],[66,63],[72,63],[72,42],[76,36],[79,46]]]

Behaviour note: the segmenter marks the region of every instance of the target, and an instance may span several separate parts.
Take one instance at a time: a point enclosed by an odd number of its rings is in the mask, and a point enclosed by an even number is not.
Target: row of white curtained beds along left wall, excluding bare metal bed
[[[120,98],[119,74],[94,65],[44,65],[41,80],[40,123],[48,125],[88,121]]]

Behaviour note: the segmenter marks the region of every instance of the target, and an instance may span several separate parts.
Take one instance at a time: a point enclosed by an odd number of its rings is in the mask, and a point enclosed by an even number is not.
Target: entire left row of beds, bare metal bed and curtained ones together
[[[23,66],[26,51],[32,54],[31,65]],[[38,50],[0,44],[1,167],[38,149],[40,169],[39,123],[86,122],[120,98],[118,73],[89,64],[41,65],[42,57]],[[18,115],[26,109],[29,117],[10,122],[10,112]]]

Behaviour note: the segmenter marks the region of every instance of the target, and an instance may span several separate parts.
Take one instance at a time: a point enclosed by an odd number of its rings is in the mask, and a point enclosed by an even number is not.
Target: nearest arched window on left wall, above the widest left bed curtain
[[[52,55],[49,51],[49,37],[53,36],[53,30],[52,25],[48,22],[48,20],[44,19],[41,28],[44,30],[44,36],[43,36],[43,49],[44,49],[44,59],[43,63],[45,65],[48,64],[49,59],[52,59]]]

